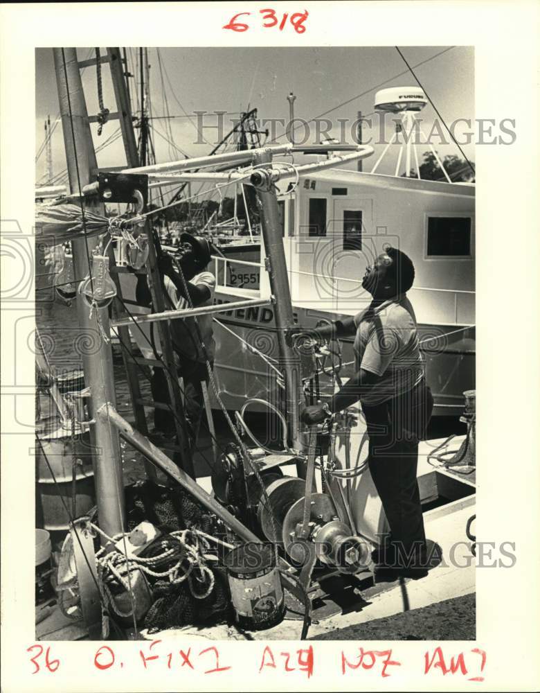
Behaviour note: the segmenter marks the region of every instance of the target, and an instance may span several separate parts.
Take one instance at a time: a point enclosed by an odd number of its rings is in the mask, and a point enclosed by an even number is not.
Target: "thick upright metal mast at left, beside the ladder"
[[[97,170],[98,163],[82,91],[77,51],[74,48],[53,49],[53,53],[69,185],[71,193],[79,194],[91,182],[91,174]],[[105,216],[105,206],[102,203],[96,204],[87,198],[81,198],[81,204]],[[78,279],[89,274],[92,251],[98,243],[96,236],[72,241],[73,265]],[[90,434],[98,515],[102,530],[109,536],[114,536],[123,532],[125,514],[120,441],[116,429],[96,416],[100,407],[116,406],[112,350],[103,339],[100,329],[101,325],[105,335],[109,335],[109,312],[108,308],[94,308],[90,317],[90,308],[78,293],[77,313],[82,335],[86,335],[87,342],[91,344],[91,348],[84,350],[82,359],[85,385],[91,393],[90,420],[95,417],[90,426]]]

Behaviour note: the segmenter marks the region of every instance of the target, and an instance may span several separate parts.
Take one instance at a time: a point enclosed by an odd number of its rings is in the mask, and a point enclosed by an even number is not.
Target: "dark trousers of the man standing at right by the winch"
[[[402,396],[362,406],[369,435],[369,468],[390,537],[403,556],[425,550],[426,534],[416,480],[418,441],[424,439],[433,396],[422,381]]]

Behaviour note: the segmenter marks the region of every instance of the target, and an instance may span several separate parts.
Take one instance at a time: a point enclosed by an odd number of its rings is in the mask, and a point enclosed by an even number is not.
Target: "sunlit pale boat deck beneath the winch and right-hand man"
[[[459,447],[462,439],[462,436],[454,438],[451,447]],[[341,589],[346,588],[352,596],[352,599],[347,600],[346,606],[337,604],[332,594],[321,587],[316,593],[316,602],[322,606],[314,612],[314,623],[309,628],[309,638],[328,635],[338,629],[474,593],[475,561],[471,557],[465,527],[467,520],[475,513],[476,475],[464,475],[449,469],[435,468],[430,464],[429,454],[443,442],[444,439],[423,441],[420,444],[418,460],[418,480],[425,508],[426,535],[442,548],[440,565],[433,568],[426,577],[417,581],[406,580],[403,585],[396,582],[374,584],[371,572],[366,570],[354,577],[356,587],[351,588],[350,579],[347,585],[343,584]],[[296,466],[284,466],[283,472],[294,476]],[[197,481],[207,491],[211,491],[209,476],[201,477]],[[455,500],[450,500],[451,498]],[[43,609],[47,610],[47,607],[40,605],[37,608],[36,617]],[[56,606],[50,611],[51,613],[36,625],[37,640],[88,638],[82,622],[67,619]],[[182,629],[161,631],[159,635],[153,633],[147,637],[159,637],[163,640],[298,640],[301,630],[298,618],[298,614],[292,614],[292,618],[286,618],[278,626],[259,632],[240,631],[235,626],[224,624],[204,629],[199,626],[186,626]],[[471,638],[474,636],[475,634],[471,633]],[[133,638],[133,634],[128,632],[127,638],[129,637]],[[141,631],[139,637],[145,638],[145,631]]]

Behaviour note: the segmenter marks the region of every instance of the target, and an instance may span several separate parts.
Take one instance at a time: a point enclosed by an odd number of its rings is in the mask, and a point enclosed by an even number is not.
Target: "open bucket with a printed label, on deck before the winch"
[[[237,624],[262,631],[282,622],[285,599],[273,545],[242,544],[228,552],[224,563]]]

